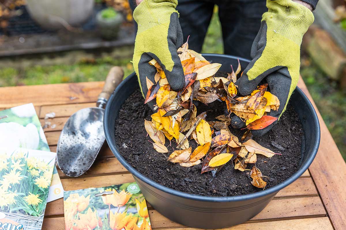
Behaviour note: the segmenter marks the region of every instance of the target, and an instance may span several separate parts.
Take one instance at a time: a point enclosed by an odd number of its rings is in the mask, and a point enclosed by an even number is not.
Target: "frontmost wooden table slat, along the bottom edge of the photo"
[[[150,214],[152,228],[160,229],[155,226],[153,219]],[[56,218],[45,218],[43,220],[43,230],[55,229],[55,230],[64,230],[65,223],[64,217]],[[166,230],[198,230],[196,228],[166,228]],[[268,221],[261,223],[243,223],[234,227],[224,228],[224,230],[281,230],[281,229],[290,229],[290,230],[333,230],[333,227],[330,224],[328,217],[317,217],[317,218],[305,218],[305,219],[295,219],[295,220],[280,220],[280,221]]]

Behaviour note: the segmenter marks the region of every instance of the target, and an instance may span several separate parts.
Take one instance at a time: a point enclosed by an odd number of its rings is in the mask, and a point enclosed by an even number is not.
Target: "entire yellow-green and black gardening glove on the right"
[[[252,61],[236,85],[240,94],[248,95],[265,78],[270,92],[280,100],[279,109],[267,115],[280,118],[297,86],[300,45],[314,17],[307,7],[291,0],[267,0],[266,6],[268,11],[262,16],[260,31],[251,47]],[[276,122],[264,129],[252,130],[252,134],[262,136]],[[245,126],[236,116],[231,124],[235,128]]]

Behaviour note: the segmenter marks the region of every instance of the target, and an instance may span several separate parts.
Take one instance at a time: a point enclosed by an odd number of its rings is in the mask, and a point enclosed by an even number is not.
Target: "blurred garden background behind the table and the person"
[[[133,48],[127,0],[0,0],[1,87],[127,76]],[[217,7],[202,52],[223,53]],[[346,159],[346,0],[319,0],[300,73]]]

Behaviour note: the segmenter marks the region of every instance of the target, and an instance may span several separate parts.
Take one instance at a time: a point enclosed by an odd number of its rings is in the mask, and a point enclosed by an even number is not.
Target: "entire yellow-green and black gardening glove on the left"
[[[175,10],[177,4],[177,0],[144,0],[134,10],[138,30],[133,65],[144,97],[148,92],[146,77],[155,83],[156,68],[148,63],[153,58],[160,64],[174,91],[184,87],[184,71],[177,54],[183,44],[179,14]],[[154,101],[149,102],[151,108]]]

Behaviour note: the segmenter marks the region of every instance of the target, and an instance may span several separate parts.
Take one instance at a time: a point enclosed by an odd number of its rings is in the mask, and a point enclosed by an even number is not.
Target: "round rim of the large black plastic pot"
[[[207,54],[207,53],[203,53],[202,55],[205,55],[205,54]],[[213,54],[213,53],[210,53],[210,54],[216,55],[216,56],[219,56],[219,57],[227,57],[227,58],[231,57],[231,58],[236,58],[236,59],[239,58],[239,57],[236,57],[236,56],[231,56],[231,55],[226,55],[226,54]],[[245,58],[239,58],[239,60],[243,60],[243,61],[249,62],[249,60],[247,60]],[[130,75],[132,75],[132,74],[133,73],[131,73]],[[254,193],[250,193],[250,194],[239,195],[239,196],[231,196],[231,197],[201,196],[201,195],[197,195],[197,194],[190,194],[190,193],[181,192],[181,191],[178,191],[178,190],[174,190],[174,189],[168,188],[166,186],[163,186],[162,184],[159,184],[159,183],[157,183],[157,182],[147,178],[142,173],[138,172],[135,168],[133,168],[125,160],[125,158],[118,151],[118,148],[115,146],[115,144],[111,143],[111,137],[112,137],[111,135],[114,135],[114,133],[113,133],[113,131],[110,132],[108,130],[108,119],[109,118],[114,118],[114,116],[110,116],[110,114],[111,114],[110,103],[113,100],[115,100],[115,97],[116,97],[118,91],[120,91],[120,88],[124,84],[126,84],[127,81],[129,81],[129,79],[130,79],[129,77],[125,78],[125,80],[123,80],[119,84],[119,86],[116,88],[116,90],[113,92],[113,94],[111,95],[111,97],[108,100],[108,103],[107,103],[105,111],[104,111],[104,118],[103,118],[104,134],[106,136],[106,140],[107,140],[109,148],[112,150],[113,154],[117,157],[117,159],[120,161],[120,163],[131,174],[133,174],[133,176],[137,177],[139,180],[142,180],[145,183],[150,184],[154,188],[159,189],[161,191],[167,192],[167,193],[172,194],[174,196],[186,198],[186,199],[192,199],[192,200],[197,200],[197,201],[207,201],[207,202],[229,202],[229,201],[244,201],[244,200],[249,200],[249,199],[256,199],[256,198],[260,198],[260,197],[272,194],[274,192],[277,192],[277,191],[283,189],[284,187],[288,186],[289,184],[291,184],[295,180],[297,180],[309,168],[310,164],[312,163],[313,159],[315,158],[315,156],[317,154],[317,150],[318,150],[318,147],[319,147],[319,144],[320,144],[320,125],[319,125],[319,120],[318,120],[315,108],[313,108],[310,100],[304,94],[304,92],[297,86],[296,90],[302,96],[304,102],[307,104],[307,107],[312,111],[312,117],[313,117],[313,120],[314,120],[314,123],[315,123],[315,127],[316,127],[316,137],[317,137],[318,140],[315,142],[314,146],[312,147],[313,153],[306,160],[306,162],[302,165],[302,167],[297,172],[295,172],[291,177],[289,177],[287,180],[285,180],[282,183],[277,184],[276,186],[273,186],[273,187],[271,187],[269,189],[265,189],[265,190],[254,192]],[[110,141],[108,141],[108,140],[110,140]]]

